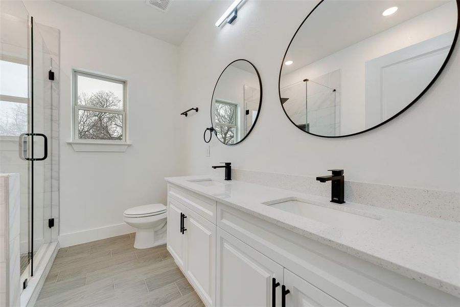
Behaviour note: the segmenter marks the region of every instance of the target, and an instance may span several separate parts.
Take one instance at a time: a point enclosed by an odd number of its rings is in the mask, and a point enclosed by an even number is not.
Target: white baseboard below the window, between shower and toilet
[[[135,232],[135,229],[126,223],[122,223],[71,233],[62,233],[59,235],[59,245],[60,247],[73,246],[131,232]]]

